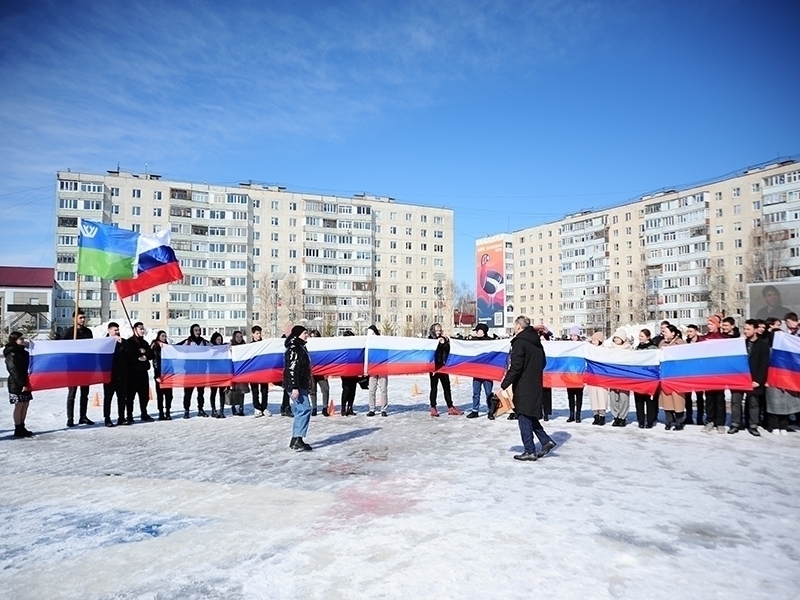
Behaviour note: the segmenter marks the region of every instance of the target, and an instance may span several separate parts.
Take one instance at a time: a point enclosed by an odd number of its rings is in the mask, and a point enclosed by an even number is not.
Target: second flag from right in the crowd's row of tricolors
[[[745,339],[707,340],[662,348],[661,387],[667,394],[752,390]]]

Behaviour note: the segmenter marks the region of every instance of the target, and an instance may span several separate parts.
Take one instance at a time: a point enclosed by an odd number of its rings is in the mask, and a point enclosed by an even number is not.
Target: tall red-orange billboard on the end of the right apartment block
[[[505,326],[506,272],[505,240],[500,238],[477,243],[477,294],[478,323],[489,327]]]

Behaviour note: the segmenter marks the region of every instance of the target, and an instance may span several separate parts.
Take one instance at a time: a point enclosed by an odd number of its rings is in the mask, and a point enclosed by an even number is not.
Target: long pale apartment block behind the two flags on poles
[[[183,281],[125,301],[132,321],[172,339],[192,323],[226,337],[302,323],[334,335],[414,335],[451,312],[453,211],[366,194],[306,194],[253,182],[163,180],[152,173],[56,174],[55,321],[76,302],[90,324],[125,319],[113,285],[76,275],[78,219],[149,234],[170,229]]]

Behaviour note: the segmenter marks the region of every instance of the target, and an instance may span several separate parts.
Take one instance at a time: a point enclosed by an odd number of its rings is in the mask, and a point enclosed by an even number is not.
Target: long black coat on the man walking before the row
[[[542,414],[542,374],[547,360],[542,341],[533,327],[526,327],[511,340],[509,366],[501,389],[514,386],[514,412],[539,418]]]

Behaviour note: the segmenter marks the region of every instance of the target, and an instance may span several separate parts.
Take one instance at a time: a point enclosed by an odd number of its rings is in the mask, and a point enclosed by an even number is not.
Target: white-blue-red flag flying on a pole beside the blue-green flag
[[[120,298],[127,298],[157,285],[183,279],[175,251],[169,245],[168,230],[155,235],[139,235],[136,245],[136,274],[119,278],[115,285]]]

